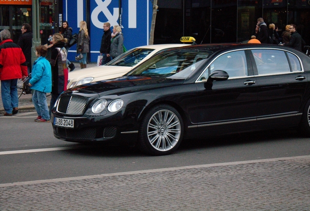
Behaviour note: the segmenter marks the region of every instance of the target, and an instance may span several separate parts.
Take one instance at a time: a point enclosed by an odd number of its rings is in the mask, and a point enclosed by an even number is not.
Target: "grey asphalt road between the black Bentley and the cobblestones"
[[[136,148],[61,141],[51,123],[35,118],[35,112],[0,117],[0,183],[310,155],[309,138],[291,130],[186,140],[176,153],[153,157]]]

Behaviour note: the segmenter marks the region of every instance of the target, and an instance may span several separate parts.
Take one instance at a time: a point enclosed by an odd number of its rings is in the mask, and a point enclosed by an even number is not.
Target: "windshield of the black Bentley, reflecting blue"
[[[212,53],[211,51],[202,52],[198,49],[163,51],[136,67],[127,76],[142,75],[186,79]]]

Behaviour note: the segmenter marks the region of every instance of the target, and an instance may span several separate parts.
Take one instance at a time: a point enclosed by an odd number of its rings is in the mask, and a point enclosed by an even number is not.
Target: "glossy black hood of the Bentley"
[[[148,76],[123,76],[116,79],[98,81],[89,84],[82,84],[66,92],[79,92],[84,94],[97,93],[99,96],[121,93],[129,93],[136,91],[144,91],[154,89],[157,87],[173,86],[183,83],[183,79],[168,79],[162,77],[148,77]]]

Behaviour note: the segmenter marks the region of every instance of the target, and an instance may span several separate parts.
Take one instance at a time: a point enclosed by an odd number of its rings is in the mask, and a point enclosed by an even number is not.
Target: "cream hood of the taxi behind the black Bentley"
[[[89,68],[79,69],[79,70],[74,70],[72,72],[69,72],[68,78],[70,79],[70,81],[77,81],[75,79],[80,80],[86,77],[97,78],[97,77],[104,77],[104,76],[107,76],[108,79],[110,79],[110,78],[115,78],[113,77],[113,75],[125,74],[129,72],[131,69],[132,67],[127,67],[127,66],[100,65],[100,66],[89,67]]]

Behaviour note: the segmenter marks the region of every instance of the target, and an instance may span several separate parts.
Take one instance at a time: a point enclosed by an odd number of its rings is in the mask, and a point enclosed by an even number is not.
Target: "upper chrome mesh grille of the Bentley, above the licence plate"
[[[78,96],[63,96],[59,99],[57,111],[65,114],[81,115],[86,104],[86,98]]]

